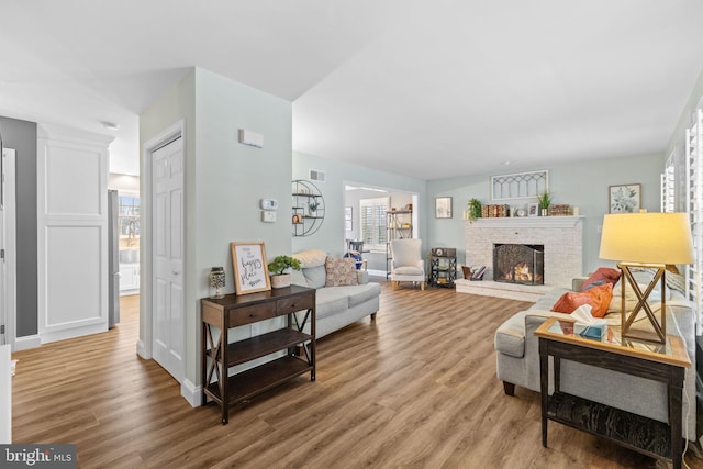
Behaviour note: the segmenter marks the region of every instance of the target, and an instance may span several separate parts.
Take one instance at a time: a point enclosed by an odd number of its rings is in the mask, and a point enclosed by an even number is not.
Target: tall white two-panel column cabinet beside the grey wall
[[[108,331],[108,145],[40,125],[38,334],[42,343]]]

